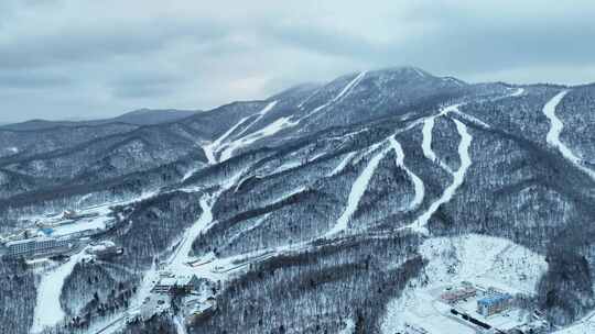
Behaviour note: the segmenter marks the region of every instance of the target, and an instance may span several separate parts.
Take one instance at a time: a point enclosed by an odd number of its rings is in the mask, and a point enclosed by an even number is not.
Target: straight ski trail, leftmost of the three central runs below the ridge
[[[364,196],[364,192],[366,192],[368,183],[374,176],[374,171],[376,170],[376,168],[380,164],[380,160],[385,157],[387,152],[388,149],[382,149],[381,152],[377,153],[370,159],[364,171],[361,171],[361,174],[357,177],[354,185],[351,186],[351,191],[349,192],[347,208],[335,223],[335,226],[326,233],[325,237],[332,236],[348,229],[349,219],[356,212],[357,205],[361,200],[361,196]]]

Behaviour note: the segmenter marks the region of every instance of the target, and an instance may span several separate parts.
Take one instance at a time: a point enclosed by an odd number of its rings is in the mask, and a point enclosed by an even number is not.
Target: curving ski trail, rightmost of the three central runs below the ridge
[[[465,180],[465,174],[472,165],[469,147],[473,137],[467,132],[467,126],[464,123],[458,120],[453,121],[455,122],[456,130],[461,135],[461,142],[458,144],[458,156],[461,157],[461,166],[458,167],[458,170],[453,174],[453,182],[446,189],[444,189],[442,196],[430,205],[428,211],[420,215],[413,223],[401,227],[400,230],[409,227],[415,232],[426,234],[428,230],[425,225],[428,224],[432,215],[436,212],[440,205],[447,203],[453,198],[458,187],[461,187],[461,185],[463,185],[463,181]]]

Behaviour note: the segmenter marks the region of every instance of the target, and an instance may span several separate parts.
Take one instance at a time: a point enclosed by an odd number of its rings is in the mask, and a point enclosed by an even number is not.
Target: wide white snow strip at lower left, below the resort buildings
[[[44,327],[54,326],[66,315],[60,304],[60,294],[64,280],[73,272],[77,263],[88,258],[85,249],[73,255],[66,263],[44,272],[37,287],[37,303],[33,313],[32,333],[39,333]]]

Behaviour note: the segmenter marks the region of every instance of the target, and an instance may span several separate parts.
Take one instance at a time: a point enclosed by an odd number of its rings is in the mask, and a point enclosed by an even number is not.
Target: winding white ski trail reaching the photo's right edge
[[[560,120],[555,114],[555,109],[558,108],[558,104],[562,101],[564,96],[566,96],[569,91],[563,90],[560,93],[558,93],[555,97],[553,97],[545,105],[543,105],[543,113],[545,116],[550,120],[550,131],[548,132],[548,135],[545,137],[548,144],[551,146],[558,148],[562,156],[571,162],[574,166],[578,167],[582,171],[587,174],[592,179],[595,180],[595,170],[592,170],[582,164],[582,159],[576,156],[570,147],[564,145],[560,141],[560,134],[562,133],[562,129],[564,127],[564,123],[562,123],[562,120]]]

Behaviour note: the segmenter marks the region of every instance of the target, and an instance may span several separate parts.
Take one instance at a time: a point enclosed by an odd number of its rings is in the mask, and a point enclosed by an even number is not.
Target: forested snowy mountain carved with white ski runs
[[[0,130],[3,235],[74,209],[110,222],[90,242],[125,248],[89,260],[86,241],[33,271],[3,259],[0,329],[439,333],[453,320],[436,291],[462,281],[588,326],[593,105],[593,85],[397,67],[165,123]],[[159,270],[215,282],[215,310],[187,321],[174,299],[127,321]]]

